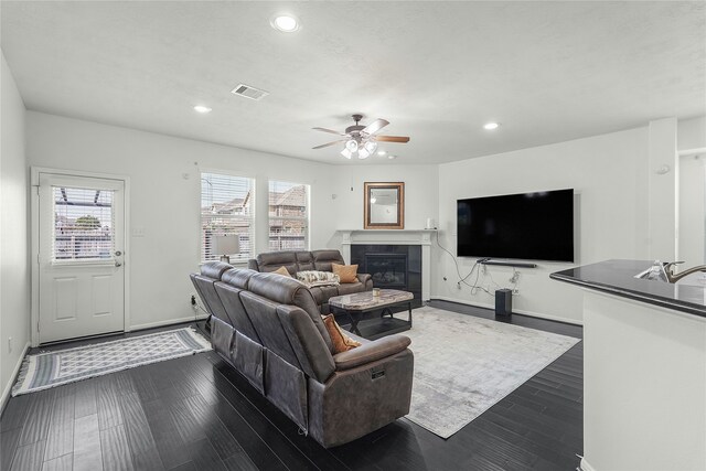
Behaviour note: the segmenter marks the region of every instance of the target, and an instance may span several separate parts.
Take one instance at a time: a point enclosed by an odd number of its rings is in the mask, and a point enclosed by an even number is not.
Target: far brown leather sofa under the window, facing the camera
[[[269,272],[280,267],[286,267],[289,275],[295,277],[297,271],[333,271],[331,264],[345,265],[343,256],[339,250],[269,251],[259,254],[254,259],[248,260],[248,268],[255,271]],[[368,274],[357,274],[357,281],[353,283],[310,288],[322,314],[329,313],[330,298],[340,295],[370,291],[372,289],[373,278]]]

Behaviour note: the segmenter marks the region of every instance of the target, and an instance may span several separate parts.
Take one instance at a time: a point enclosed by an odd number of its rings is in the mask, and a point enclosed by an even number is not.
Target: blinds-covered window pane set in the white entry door
[[[111,190],[52,186],[52,261],[104,260],[115,251]]]

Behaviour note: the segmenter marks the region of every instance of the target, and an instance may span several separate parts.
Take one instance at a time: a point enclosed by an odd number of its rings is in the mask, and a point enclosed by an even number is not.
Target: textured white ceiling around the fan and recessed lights
[[[335,136],[311,128],[362,113],[411,137],[382,146],[395,163],[429,163],[706,114],[705,7],[2,1],[0,13],[29,109],[330,163],[347,161],[311,148]],[[279,11],[301,30],[271,29]],[[239,83],[270,95],[232,95]]]

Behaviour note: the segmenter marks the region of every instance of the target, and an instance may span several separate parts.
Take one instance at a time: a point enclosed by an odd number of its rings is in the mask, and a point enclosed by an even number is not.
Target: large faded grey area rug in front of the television
[[[407,418],[449,438],[579,339],[424,307],[414,311]]]

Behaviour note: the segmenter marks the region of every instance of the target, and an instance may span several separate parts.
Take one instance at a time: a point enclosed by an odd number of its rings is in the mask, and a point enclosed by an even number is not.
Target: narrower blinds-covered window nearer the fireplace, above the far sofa
[[[309,249],[309,185],[270,180],[269,249]]]

